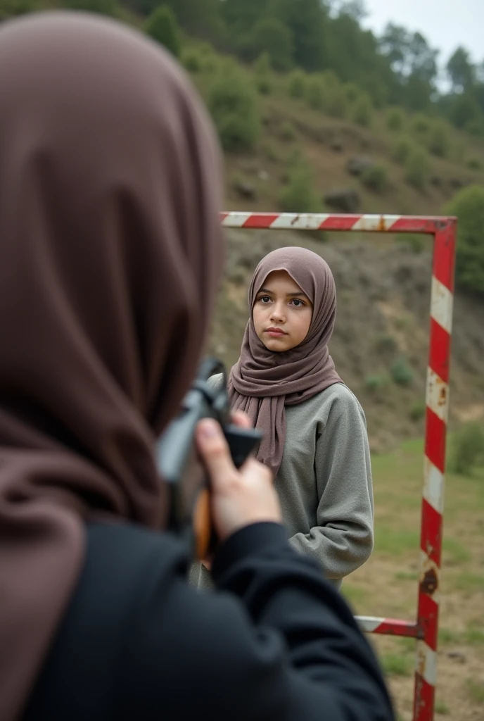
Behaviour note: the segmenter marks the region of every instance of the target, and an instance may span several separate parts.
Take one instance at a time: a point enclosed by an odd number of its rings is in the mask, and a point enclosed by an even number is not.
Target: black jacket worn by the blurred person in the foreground
[[[238,531],[218,593],[169,534],[89,526],[84,570],[24,721],[390,721],[346,603],[282,526]]]

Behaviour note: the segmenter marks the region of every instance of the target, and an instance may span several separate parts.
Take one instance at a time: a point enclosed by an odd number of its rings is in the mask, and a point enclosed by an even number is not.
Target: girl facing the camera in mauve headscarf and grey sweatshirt
[[[248,302],[231,407],[264,431],[257,457],[274,474],[290,543],[341,588],[372,552],[373,497],[364,412],[328,350],[333,275],[310,250],[280,248],[256,267]],[[210,586],[200,565],[192,581]]]

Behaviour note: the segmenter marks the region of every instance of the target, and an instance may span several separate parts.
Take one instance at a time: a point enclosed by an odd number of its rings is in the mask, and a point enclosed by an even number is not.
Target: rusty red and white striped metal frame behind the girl
[[[221,213],[225,228],[425,233],[434,236],[426,385],[421,562],[415,622],[359,616],[369,633],[416,639],[413,721],[434,719],[442,556],[444,465],[449,410],[449,361],[454,298],[456,218],[432,216],[330,215],[326,213]]]

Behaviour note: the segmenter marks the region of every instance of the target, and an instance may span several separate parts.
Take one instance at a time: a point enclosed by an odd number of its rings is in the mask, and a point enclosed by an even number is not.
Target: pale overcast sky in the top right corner
[[[484,60],[484,0],[364,0],[369,16],[364,25],[379,33],[387,22],[418,30],[432,48],[439,48],[439,65],[447,63],[459,45],[474,62]]]

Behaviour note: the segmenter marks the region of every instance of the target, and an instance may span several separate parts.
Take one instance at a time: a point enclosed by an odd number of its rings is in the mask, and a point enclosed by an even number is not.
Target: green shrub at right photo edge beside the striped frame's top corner
[[[484,185],[470,185],[445,209],[457,216],[456,280],[461,288],[484,297]]]

